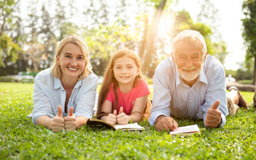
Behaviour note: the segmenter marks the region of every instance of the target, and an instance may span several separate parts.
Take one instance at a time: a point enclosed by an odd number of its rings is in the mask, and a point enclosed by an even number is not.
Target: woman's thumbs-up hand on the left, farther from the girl
[[[53,132],[62,131],[64,129],[64,119],[62,118],[61,105],[57,106],[57,115],[51,123],[51,130]]]

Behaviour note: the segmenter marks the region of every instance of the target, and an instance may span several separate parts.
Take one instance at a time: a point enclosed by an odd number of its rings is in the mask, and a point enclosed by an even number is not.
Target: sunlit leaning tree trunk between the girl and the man
[[[150,32],[149,41],[146,44],[146,54],[145,54],[145,59],[144,59],[143,67],[142,67],[144,72],[146,72],[148,70],[148,66],[149,66],[149,64],[151,62],[151,59],[152,59],[152,51],[154,49],[154,39],[156,37],[156,33],[157,33],[157,30],[158,30],[158,23],[160,21],[162,11],[164,10],[165,3],[166,3],[166,0],[160,1],[160,4],[156,8],[156,13],[155,13],[155,16],[154,16],[155,19],[153,21],[153,27],[152,27],[151,32]]]

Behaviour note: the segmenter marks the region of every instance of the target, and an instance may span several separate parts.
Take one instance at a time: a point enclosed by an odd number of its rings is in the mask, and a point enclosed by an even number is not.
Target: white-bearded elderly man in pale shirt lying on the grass
[[[225,69],[207,55],[203,35],[192,30],[178,33],[171,55],[156,67],[150,125],[156,125],[158,131],[176,129],[178,123],[170,117],[174,116],[223,127],[229,114]]]

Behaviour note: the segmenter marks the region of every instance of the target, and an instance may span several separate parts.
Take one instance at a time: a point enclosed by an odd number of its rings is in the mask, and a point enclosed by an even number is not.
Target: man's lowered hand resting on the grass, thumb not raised
[[[174,121],[171,117],[166,117],[165,115],[160,115],[156,119],[156,130],[157,131],[168,131],[173,130],[178,127],[178,123]]]

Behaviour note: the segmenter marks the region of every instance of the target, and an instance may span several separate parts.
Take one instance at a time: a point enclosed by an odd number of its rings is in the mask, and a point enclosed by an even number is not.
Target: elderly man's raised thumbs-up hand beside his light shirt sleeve
[[[221,111],[219,110],[220,101],[217,100],[207,111],[207,117],[205,119],[205,125],[207,127],[218,127],[221,125]]]

